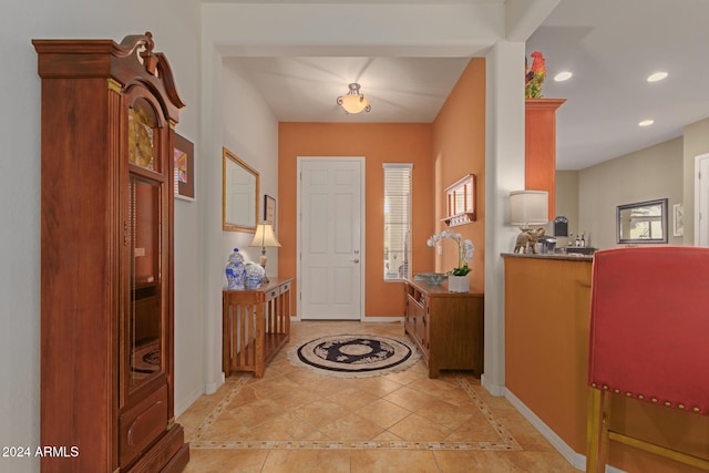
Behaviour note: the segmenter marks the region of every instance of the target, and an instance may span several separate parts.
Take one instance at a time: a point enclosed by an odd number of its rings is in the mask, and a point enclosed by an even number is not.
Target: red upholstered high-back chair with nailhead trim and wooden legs
[[[586,472],[608,440],[695,466],[709,462],[608,429],[608,395],[709,414],[709,248],[596,251],[590,288]]]

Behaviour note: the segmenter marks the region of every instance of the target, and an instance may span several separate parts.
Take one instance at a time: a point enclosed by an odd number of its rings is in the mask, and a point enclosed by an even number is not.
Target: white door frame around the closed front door
[[[364,301],[367,300],[364,295],[366,295],[366,280],[364,280],[364,275],[366,275],[366,267],[367,267],[367,240],[366,240],[366,236],[367,236],[367,228],[364,226],[364,223],[367,222],[367,212],[366,212],[366,203],[367,203],[367,198],[366,198],[366,194],[364,191],[367,188],[367,173],[366,173],[366,164],[367,164],[367,160],[364,158],[364,156],[297,156],[296,158],[297,161],[297,173],[296,173],[296,179],[297,179],[297,202],[296,202],[296,277],[297,277],[297,287],[298,287],[298,294],[296,295],[296,320],[300,320],[300,316],[301,316],[301,299],[300,299],[300,278],[301,278],[301,268],[300,268],[300,218],[302,216],[301,209],[300,209],[300,192],[301,192],[301,176],[302,176],[302,168],[301,168],[301,164],[305,161],[342,161],[342,160],[347,160],[347,161],[354,161],[358,162],[360,164],[360,241],[361,241],[361,248],[360,248],[360,264],[359,264],[359,278],[360,278],[360,315],[359,315],[359,320],[362,321],[364,320]]]

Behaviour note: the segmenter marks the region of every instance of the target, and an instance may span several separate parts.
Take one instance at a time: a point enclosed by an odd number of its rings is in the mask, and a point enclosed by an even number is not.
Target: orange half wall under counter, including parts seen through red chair
[[[545,436],[583,470],[593,257],[503,257],[505,387],[511,401],[521,402],[551,429],[553,434]],[[709,456],[708,417],[621,397],[613,397],[610,403],[614,429],[700,457]],[[540,429],[538,422],[532,423]],[[608,464],[628,473],[701,471],[616,442]]]

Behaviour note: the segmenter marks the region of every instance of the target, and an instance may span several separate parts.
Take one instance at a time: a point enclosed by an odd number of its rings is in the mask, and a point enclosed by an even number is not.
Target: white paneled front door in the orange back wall
[[[361,320],[362,157],[299,157],[298,315]]]

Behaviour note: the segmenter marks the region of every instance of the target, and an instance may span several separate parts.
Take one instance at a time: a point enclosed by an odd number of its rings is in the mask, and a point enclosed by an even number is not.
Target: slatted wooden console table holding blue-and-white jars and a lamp
[[[222,296],[222,369],[254,371],[266,364],[290,335],[292,278],[273,278],[258,289],[224,290]]]

